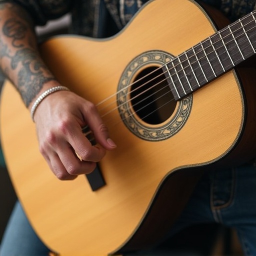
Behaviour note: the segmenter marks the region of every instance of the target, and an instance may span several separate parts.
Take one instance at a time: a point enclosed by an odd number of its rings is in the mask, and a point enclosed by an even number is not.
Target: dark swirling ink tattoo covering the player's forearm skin
[[[35,40],[32,36],[31,20],[27,14],[15,5],[8,5],[12,15],[5,20],[0,35],[0,61],[3,57],[10,59],[10,67],[6,66],[4,72],[11,70],[17,73],[17,90],[19,91],[26,107],[38,94],[43,84],[55,78],[50,74],[47,67],[38,56]],[[4,43],[3,36],[10,38],[12,51],[7,43]],[[33,42],[33,43],[31,43]]]

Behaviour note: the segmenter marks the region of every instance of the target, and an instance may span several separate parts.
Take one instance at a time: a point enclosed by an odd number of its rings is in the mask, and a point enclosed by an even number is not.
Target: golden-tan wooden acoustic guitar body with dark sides
[[[154,0],[111,38],[59,36],[41,45],[62,85],[100,102],[99,113],[117,143],[99,163],[105,185],[95,191],[83,175],[60,181],[51,173],[29,112],[5,83],[0,123],[6,164],[32,226],[49,248],[60,255],[97,256],[146,247],[175,221],[200,167],[255,155],[251,68],[228,71],[171,103],[172,110],[156,122],[143,119],[134,101],[122,104],[127,80],[134,82],[214,32],[193,1]]]

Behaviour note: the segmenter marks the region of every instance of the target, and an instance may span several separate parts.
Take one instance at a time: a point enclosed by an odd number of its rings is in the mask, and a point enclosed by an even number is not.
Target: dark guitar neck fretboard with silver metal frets
[[[174,98],[199,89],[255,54],[255,27],[253,11],[167,63],[163,70]]]

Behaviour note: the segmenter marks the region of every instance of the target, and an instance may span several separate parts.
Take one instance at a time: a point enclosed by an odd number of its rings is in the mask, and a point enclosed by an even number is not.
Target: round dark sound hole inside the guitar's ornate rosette
[[[147,67],[134,81],[130,99],[139,118],[149,124],[159,124],[167,120],[175,109],[176,101],[162,69],[157,66]]]

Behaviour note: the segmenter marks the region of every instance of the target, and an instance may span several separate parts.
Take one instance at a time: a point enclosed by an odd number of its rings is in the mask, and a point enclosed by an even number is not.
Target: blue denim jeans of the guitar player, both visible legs
[[[205,172],[170,235],[189,225],[212,222],[235,228],[244,255],[256,256],[255,163]],[[48,251],[17,203],[2,240],[0,256],[46,256]],[[135,255],[145,253],[159,256],[159,251],[154,253],[153,249]]]

